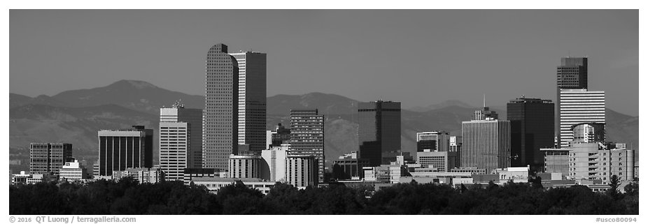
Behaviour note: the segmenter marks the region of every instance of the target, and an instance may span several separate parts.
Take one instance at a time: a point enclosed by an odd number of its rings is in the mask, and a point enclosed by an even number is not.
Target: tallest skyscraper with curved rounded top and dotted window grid
[[[227,45],[209,49],[206,60],[205,110],[202,119],[202,167],[227,170],[237,154],[239,66]]]

